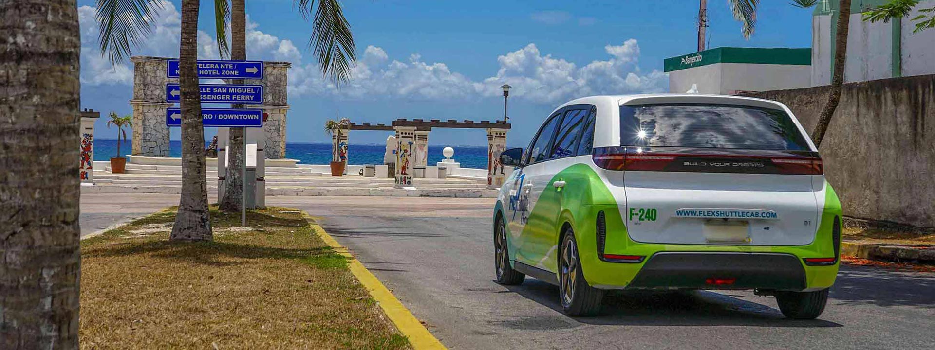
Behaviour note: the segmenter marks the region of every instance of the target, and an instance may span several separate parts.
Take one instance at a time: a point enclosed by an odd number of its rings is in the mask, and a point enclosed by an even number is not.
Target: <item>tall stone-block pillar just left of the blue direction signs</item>
[[[133,146],[137,156],[169,156],[169,128],[165,126],[165,84],[179,79],[165,77],[165,57],[134,56]]]

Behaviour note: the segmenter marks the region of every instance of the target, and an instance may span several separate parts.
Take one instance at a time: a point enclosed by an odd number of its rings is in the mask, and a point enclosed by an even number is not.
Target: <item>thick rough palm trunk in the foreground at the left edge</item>
[[[75,0],[0,0],[0,349],[77,349]]]

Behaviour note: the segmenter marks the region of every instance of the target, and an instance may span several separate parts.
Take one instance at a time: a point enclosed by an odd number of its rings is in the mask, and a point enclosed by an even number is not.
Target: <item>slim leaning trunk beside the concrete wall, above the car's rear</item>
[[[847,53],[847,32],[851,26],[851,0],[841,0],[838,12],[838,33],[834,37],[834,73],[831,76],[831,90],[827,93],[827,103],[822,108],[818,117],[818,124],[815,125],[815,131],[812,133],[812,141],[815,147],[821,146],[821,140],[825,138],[827,126],[831,124],[831,117],[834,111],[838,109],[838,103],[841,102],[841,85],[844,84],[844,64],[846,63],[845,54]]]

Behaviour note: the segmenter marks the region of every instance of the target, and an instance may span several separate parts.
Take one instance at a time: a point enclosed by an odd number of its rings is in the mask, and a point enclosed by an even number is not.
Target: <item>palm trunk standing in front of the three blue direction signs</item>
[[[179,84],[181,90],[181,198],[171,240],[210,241],[205,132],[198,93],[198,0],[181,1]]]

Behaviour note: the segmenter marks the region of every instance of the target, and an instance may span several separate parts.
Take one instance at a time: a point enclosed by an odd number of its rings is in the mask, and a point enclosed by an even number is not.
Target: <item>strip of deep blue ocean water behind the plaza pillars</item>
[[[205,146],[208,147],[207,145]],[[382,145],[354,145],[348,149],[348,160],[352,165],[382,164]],[[428,164],[435,164],[445,158],[441,154],[443,146],[428,146]],[[487,147],[457,146],[454,148],[454,160],[465,168],[486,169]],[[130,153],[130,141],[121,143],[121,153]],[[117,154],[117,140],[94,139],[94,161],[109,161]],[[169,156],[181,157],[181,141],[169,141]],[[286,158],[302,161],[300,164],[327,164],[331,161],[331,144],[286,143]]]

